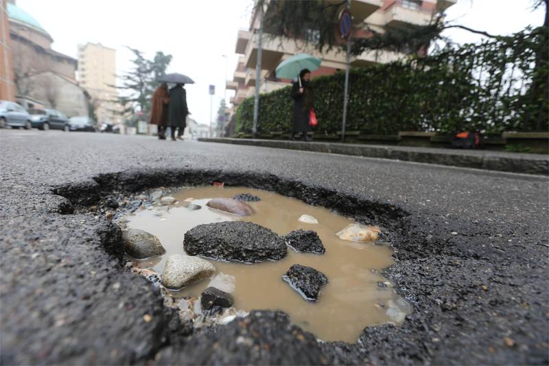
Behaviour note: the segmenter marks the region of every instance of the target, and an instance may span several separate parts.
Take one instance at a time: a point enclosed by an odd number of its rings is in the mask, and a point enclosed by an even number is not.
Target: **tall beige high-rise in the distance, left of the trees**
[[[78,80],[91,96],[97,122],[118,123],[116,50],[95,43],[78,46]]]

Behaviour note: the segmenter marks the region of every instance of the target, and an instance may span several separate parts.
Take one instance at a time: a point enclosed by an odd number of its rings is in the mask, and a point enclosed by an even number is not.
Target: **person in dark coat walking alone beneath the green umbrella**
[[[309,141],[309,111],[313,108],[313,89],[311,87],[311,71],[303,69],[299,73],[299,79],[292,85],[292,99],[294,100],[294,115],[292,117],[292,135],[290,139],[295,141],[300,133],[303,140]]]

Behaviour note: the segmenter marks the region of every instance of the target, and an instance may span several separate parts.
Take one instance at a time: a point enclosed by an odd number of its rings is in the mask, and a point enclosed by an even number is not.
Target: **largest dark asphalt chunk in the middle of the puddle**
[[[189,255],[231,262],[259,263],[286,255],[286,244],[277,233],[243,221],[198,225],[185,233],[183,247]]]

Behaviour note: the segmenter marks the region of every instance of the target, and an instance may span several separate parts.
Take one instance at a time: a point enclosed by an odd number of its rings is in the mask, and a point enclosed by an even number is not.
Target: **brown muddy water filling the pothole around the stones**
[[[251,193],[261,201],[248,203],[256,214],[234,216],[206,206],[210,198],[231,197]],[[174,297],[198,297],[208,286],[233,293],[235,308],[242,310],[283,310],[304,330],[323,341],[355,342],[367,325],[393,323],[400,325],[411,305],[393,291],[393,284],[378,271],[393,264],[392,250],[382,243],[349,242],[336,233],[353,220],[334,214],[323,207],[307,205],[295,198],[249,188],[192,187],[173,194],[178,203],[170,207],[154,205],[124,218],[127,227],[141,229],[159,238],[167,253],[152,261],[139,262],[142,268],[162,273],[165,260],[172,254],[185,254],[183,237],[196,225],[228,220],[246,220],[268,227],[283,236],[296,229],[314,230],[326,252],[296,253],[288,247],[288,255],[279,262],[260,264],[227,263],[210,260],[218,270],[205,279],[176,293]],[[189,210],[185,200],[194,198],[200,209]],[[299,222],[307,214],[318,224]],[[329,283],[323,286],[318,301],[305,301],[282,275],[292,264],[311,266],[323,272]]]

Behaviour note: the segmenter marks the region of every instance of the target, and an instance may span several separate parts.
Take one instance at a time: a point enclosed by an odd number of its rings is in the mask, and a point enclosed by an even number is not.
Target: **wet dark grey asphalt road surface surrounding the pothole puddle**
[[[0,150],[3,365],[549,362],[547,177],[100,133],[0,130]],[[82,207],[212,181],[381,225],[385,275],[414,312],[354,344],[269,311],[193,330],[124,269],[117,227]]]

